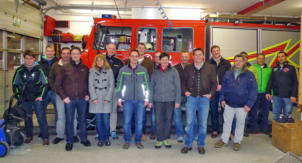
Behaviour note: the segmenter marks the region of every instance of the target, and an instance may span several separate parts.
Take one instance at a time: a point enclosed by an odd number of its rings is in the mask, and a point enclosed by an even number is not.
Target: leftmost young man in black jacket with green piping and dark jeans
[[[46,121],[46,108],[43,100],[47,96],[49,89],[47,76],[44,74],[45,69],[35,62],[35,54],[33,51],[25,51],[23,54],[25,63],[22,64],[15,72],[13,77],[13,92],[21,91],[23,85],[27,82],[26,88],[23,92],[24,99],[21,105],[26,110],[27,114],[33,114],[33,107],[37,116],[40,127],[41,138],[43,139],[43,146],[49,146],[48,125]],[[28,80],[28,79],[32,80]],[[18,95],[18,97],[20,97]],[[18,98],[16,97],[16,98]],[[29,144],[33,138],[33,119],[28,118],[25,122],[26,137],[24,144]]]

